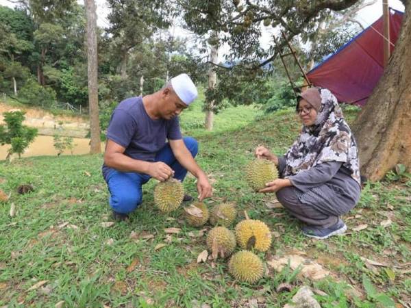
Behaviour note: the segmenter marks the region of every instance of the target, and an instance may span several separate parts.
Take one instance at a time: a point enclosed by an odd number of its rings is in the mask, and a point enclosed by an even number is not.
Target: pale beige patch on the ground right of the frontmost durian
[[[300,255],[288,255],[280,259],[272,259],[267,261],[267,264],[277,270],[277,272],[281,272],[284,266],[288,266],[288,262],[290,263],[291,270],[295,270],[301,266],[300,275],[308,279],[318,280],[329,275],[329,271],[324,270],[323,266],[303,258]]]

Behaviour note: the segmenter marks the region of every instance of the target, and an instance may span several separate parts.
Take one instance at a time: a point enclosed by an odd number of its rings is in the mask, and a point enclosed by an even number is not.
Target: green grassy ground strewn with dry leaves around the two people
[[[197,162],[214,181],[208,205],[234,201],[279,233],[271,250],[259,254],[262,259],[302,251],[332,273],[328,279],[313,282],[299,277],[298,270],[270,268],[256,285],[248,285],[232,279],[227,261],[197,264],[206,234],[193,236],[196,229],[186,225],[182,209],[169,215],[155,209],[154,181],[144,186],[144,202],[129,222],[103,228],[101,223],[112,218],[102,156],[33,157],[0,163],[0,188],[12,193],[0,203],[0,306],[54,307],[64,300],[66,307],[248,307],[247,301],[257,298],[261,307],[282,307],[303,284],[324,292],[316,296],[323,307],[388,307],[383,293],[410,303],[410,181],[367,185],[345,217],[347,235],[310,240],[283,209],[266,207],[274,196],[251,192],[242,172],[258,144],[284,153],[300,129],[295,115],[263,116],[254,107],[231,107],[216,116],[213,132],[190,124],[196,121],[201,123],[203,114],[193,105],[181,122],[184,133],[199,139]],[[184,185],[196,195],[194,180],[187,177]],[[22,183],[34,185],[34,192],[17,194]],[[11,203],[16,206],[13,218]],[[384,228],[380,222],[387,217],[393,223]],[[242,218],[240,211],[237,220]],[[368,227],[353,231],[359,224]],[[182,231],[170,237],[164,232],[168,227]],[[158,244],[166,246],[156,250]],[[388,266],[371,267],[362,257]],[[30,290],[39,281],[46,282]],[[281,283],[294,289],[277,293]],[[347,284],[362,297],[350,295]]]

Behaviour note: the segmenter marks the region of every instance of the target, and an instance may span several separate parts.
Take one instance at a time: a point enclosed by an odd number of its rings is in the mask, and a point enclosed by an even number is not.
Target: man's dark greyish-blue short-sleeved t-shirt
[[[155,160],[155,155],[167,139],[182,139],[178,117],[153,120],[147,114],[141,97],[119,103],[110,119],[106,136],[125,147],[125,155],[146,162]],[[110,167],[103,164],[104,179],[109,170]]]

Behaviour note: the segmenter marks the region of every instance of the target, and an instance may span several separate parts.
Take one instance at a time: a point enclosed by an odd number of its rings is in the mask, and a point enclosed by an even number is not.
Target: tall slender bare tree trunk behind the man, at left
[[[97,84],[97,16],[94,0],[85,0],[87,15],[88,106],[90,113],[90,153],[101,153],[99,97]]]

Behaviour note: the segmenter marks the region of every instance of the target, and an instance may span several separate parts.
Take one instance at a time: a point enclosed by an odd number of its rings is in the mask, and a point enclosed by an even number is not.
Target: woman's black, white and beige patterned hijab
[[[297,175],[323,162],[343,162],[360,184],[360,163],[356,140],[345,122],[336,97],[319,88],[321,107],[314,125],[303,126],[301,135],[285,155],[284,177]]]

